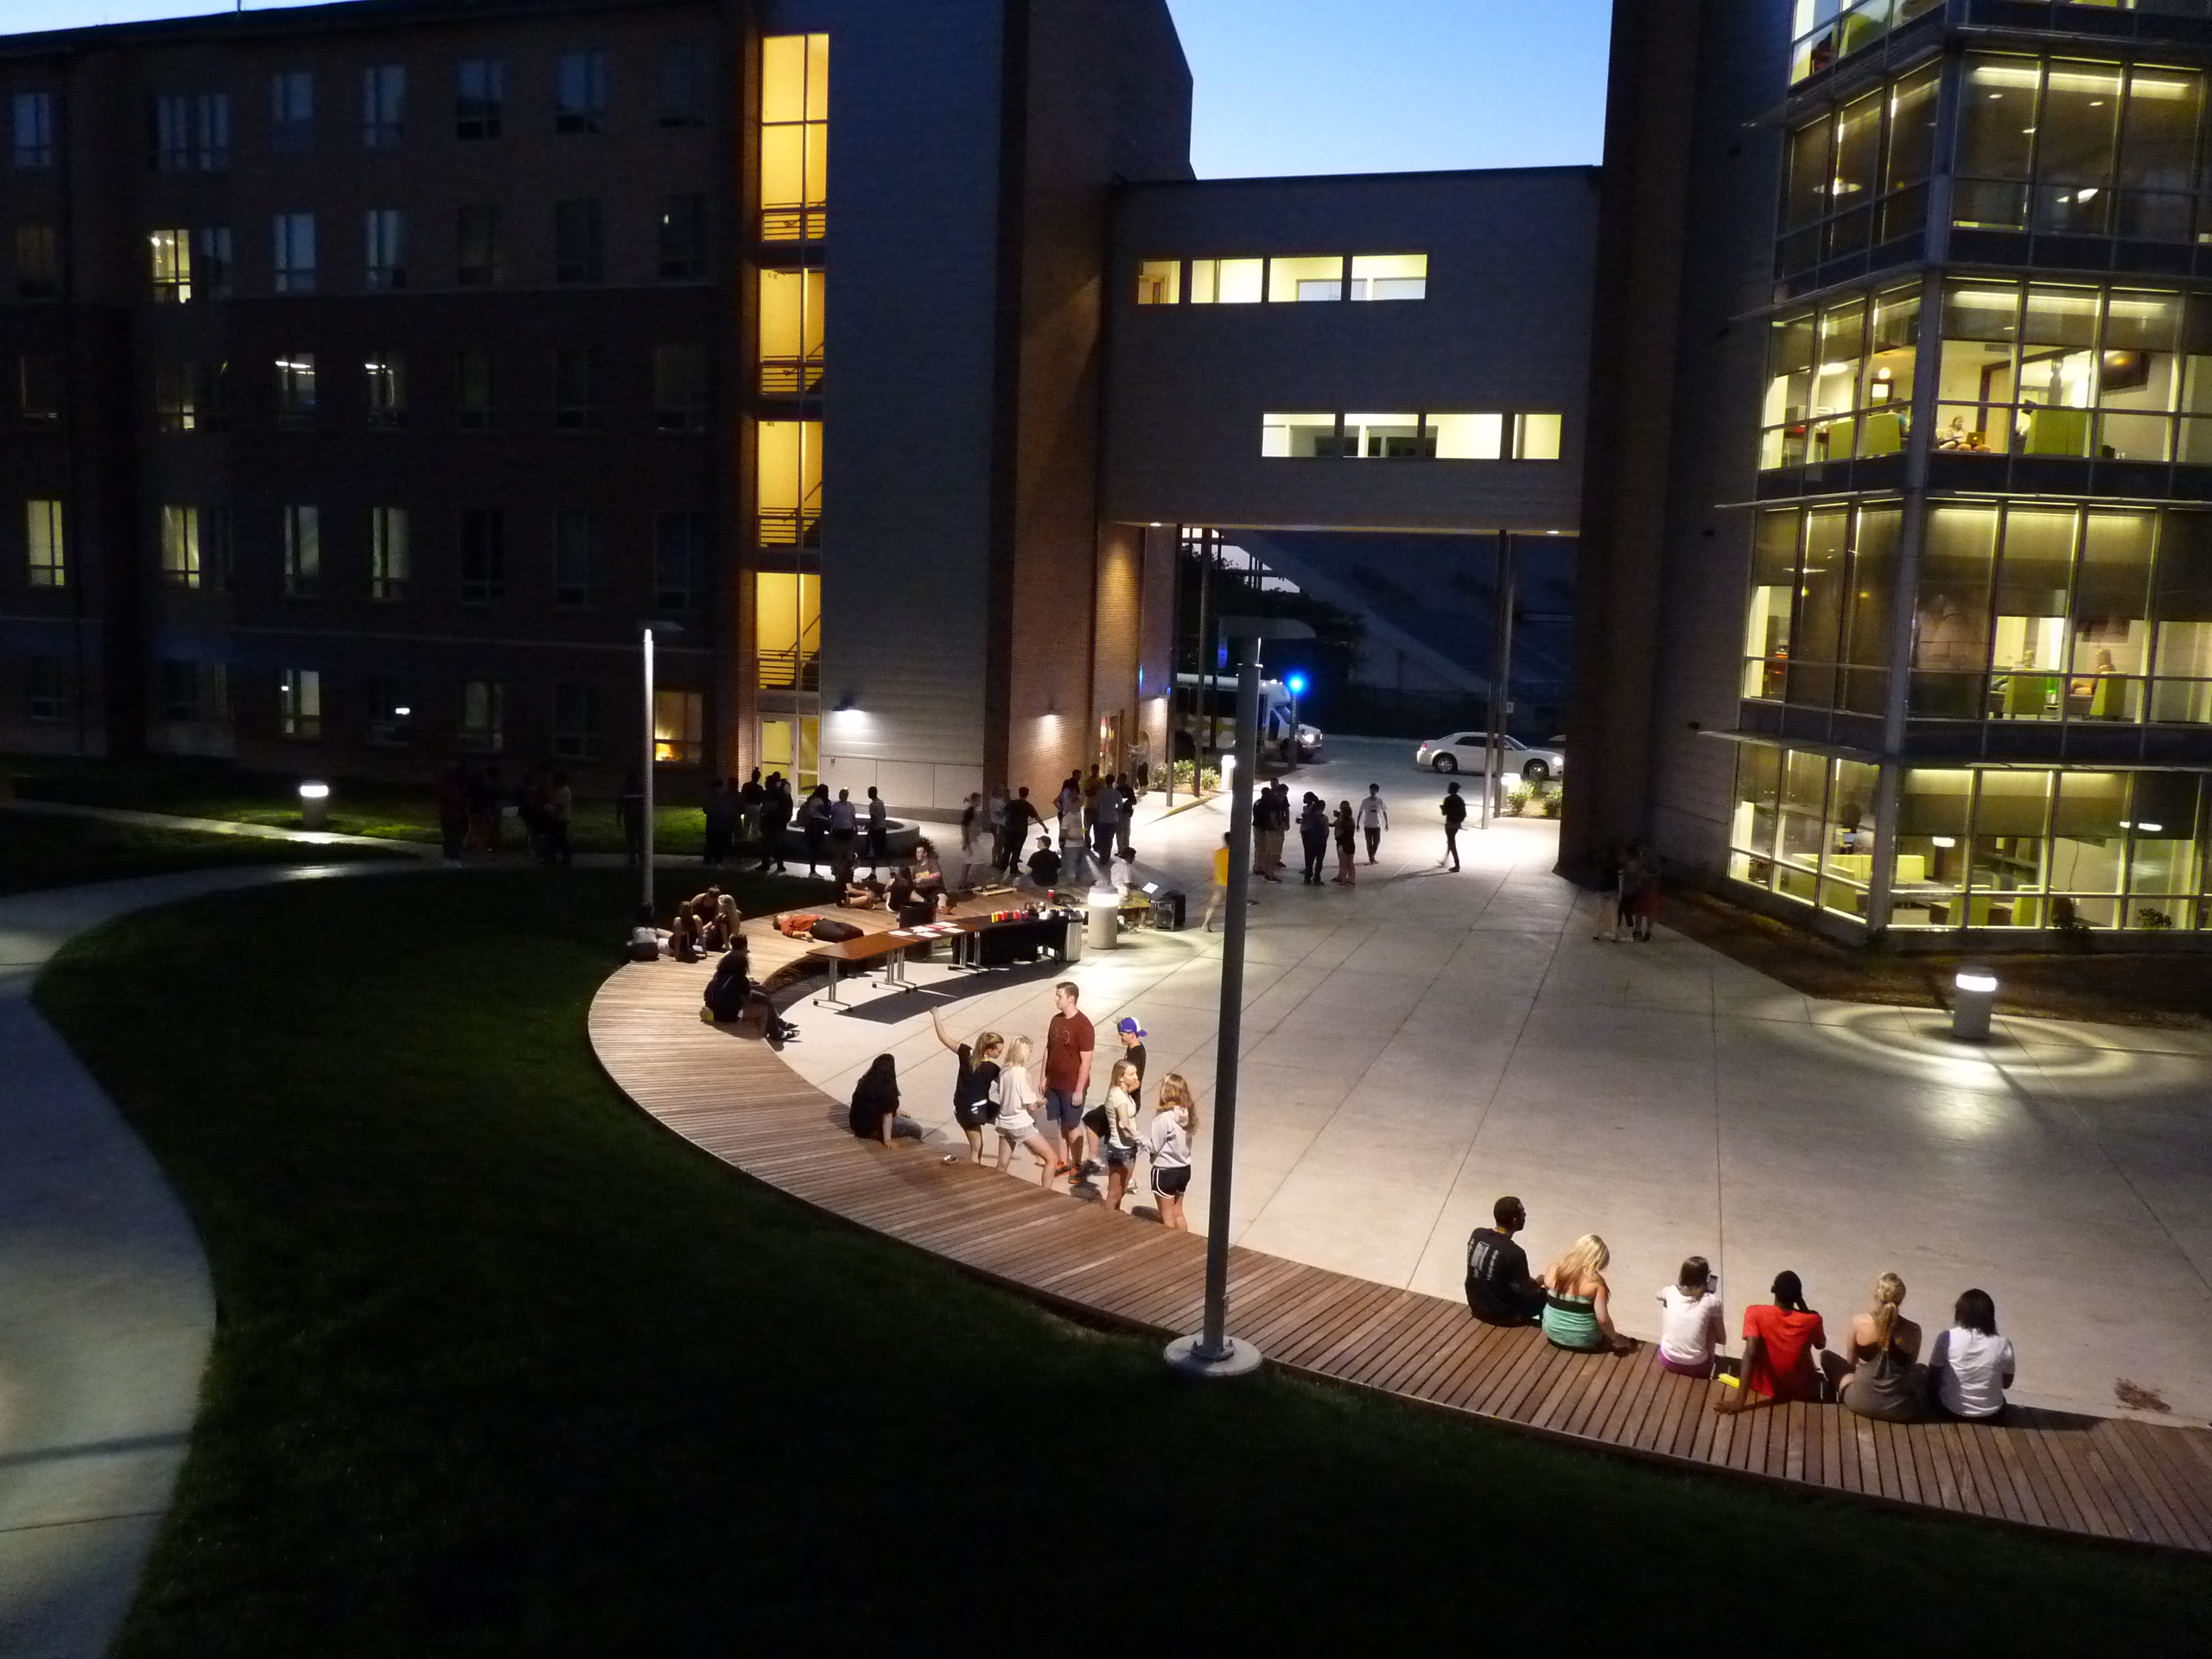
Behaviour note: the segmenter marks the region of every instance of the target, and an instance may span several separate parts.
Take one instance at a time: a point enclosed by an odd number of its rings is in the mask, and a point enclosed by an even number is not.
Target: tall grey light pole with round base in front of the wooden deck
[[[1259,770],[1259,648],[1263,639],[1312,639],[1287,617],[1223,617],[1221,633],[1243,639],[1237,670],[1237,774],[1230,785],[1230,889],[1221,933],[1221,1020],[1214,1037],[1214,1172],[1206,1201],[1206,1323],[1168,1343],[1168,1365],[1190,1376],[1243,1376],[1261,1352],[1228,1334],[1230,1183],[1237,1172],[1237,1062],[1243,1046],[1245,889],[1252,883],[1252,772]]]

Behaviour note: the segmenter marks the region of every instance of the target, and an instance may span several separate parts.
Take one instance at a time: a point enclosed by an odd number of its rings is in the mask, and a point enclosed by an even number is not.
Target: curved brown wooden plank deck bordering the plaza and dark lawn
[[[619,969],[591,1042],[646,1113],[754,1179],[1086,1318],[1199,1323],[1203,1239],[845,1133],[845,1108],[765,1044],[697,1018],[703,969]],[[2212,1433],[2013,1409],[2002,1427],[1889,1425],[1838,1407],[1708,1409],[1708,1383],[1564,1354],[1467,1307],[1252,1250],[1230,1329],[1274,1365],[1677,1467],[2000,1524],[2212,1553]]]

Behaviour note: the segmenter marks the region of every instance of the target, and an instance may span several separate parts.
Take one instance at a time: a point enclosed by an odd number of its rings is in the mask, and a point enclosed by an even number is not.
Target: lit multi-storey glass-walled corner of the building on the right
[[[1732,883],[2212,929],[2208,77],[2212,0],[1796,0]]]

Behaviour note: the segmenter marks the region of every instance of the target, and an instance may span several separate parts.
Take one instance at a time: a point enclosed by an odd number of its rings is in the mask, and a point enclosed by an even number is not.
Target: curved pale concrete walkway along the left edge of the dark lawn
[[[376,867],[204,869],[0,900],[7,1659],[93,1659],[113,1646],[184,1464],[215,1334],[192,1223],[153,1155],[31,1006],[31,982],[75,933],[115,916]]]

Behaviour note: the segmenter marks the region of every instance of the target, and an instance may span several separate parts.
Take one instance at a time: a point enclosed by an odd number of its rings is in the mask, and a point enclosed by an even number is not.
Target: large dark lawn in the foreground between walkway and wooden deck
[[[2201,1564],[1186,1383],[818,1219],[595,1068],[622,911],[613,872],[316,883],[46,971],[221,1298],[126,1659],[1584,1652],[1845,1617],[2201,1650]]]

